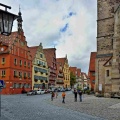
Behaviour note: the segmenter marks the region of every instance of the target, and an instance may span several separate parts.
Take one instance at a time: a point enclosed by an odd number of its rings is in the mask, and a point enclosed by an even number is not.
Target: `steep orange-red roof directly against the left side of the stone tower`
[[[90,63],[89,63],[89,71],[95,71],[95,59],[97,52],[91,52]]]

